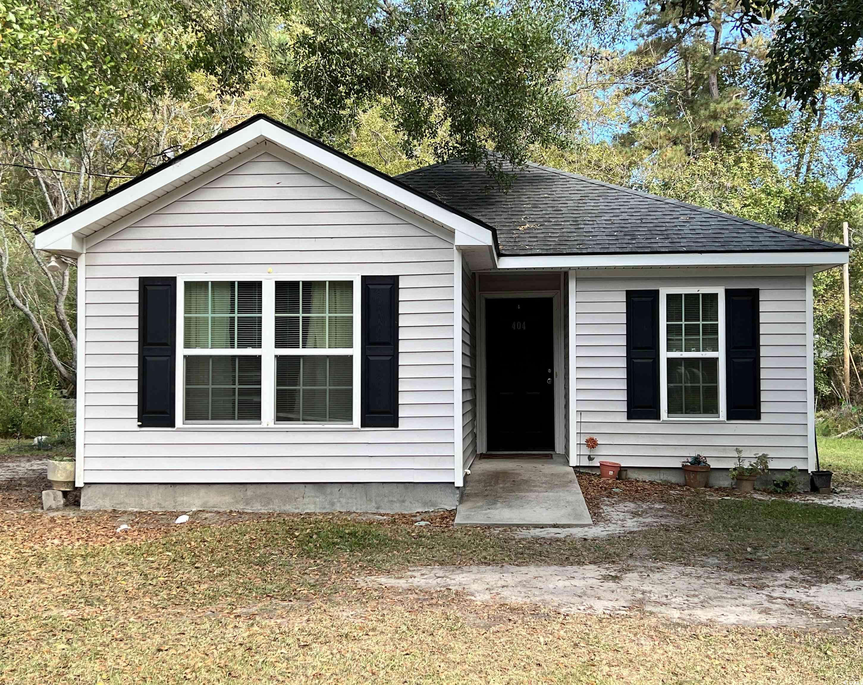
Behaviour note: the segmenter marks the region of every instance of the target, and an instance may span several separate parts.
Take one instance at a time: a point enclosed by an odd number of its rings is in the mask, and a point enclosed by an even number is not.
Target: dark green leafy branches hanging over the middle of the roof
[[[601,24],[616,6],[350,0],[313,9],[293,43],[293,83],[313,134],[341,134],[380,104],[406,154],[434,140],[438,159],[500,173],[503,160],[520,164],[531,145],[558,146],[575,131],[561,74],[580,43],[576,27]]]

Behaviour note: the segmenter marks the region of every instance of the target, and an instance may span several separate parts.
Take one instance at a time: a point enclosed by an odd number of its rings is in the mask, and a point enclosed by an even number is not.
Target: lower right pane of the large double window
[[[277,423],[350,424],[353,355],[277,355]]]

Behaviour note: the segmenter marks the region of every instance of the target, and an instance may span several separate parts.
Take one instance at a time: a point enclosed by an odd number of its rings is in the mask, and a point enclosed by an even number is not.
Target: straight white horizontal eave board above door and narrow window
[[[847,249],[794,252],[685,252],[625,255],[501,256],[500,269],[577,269],[649,267],[815,267],[823,271],[847,264]]]

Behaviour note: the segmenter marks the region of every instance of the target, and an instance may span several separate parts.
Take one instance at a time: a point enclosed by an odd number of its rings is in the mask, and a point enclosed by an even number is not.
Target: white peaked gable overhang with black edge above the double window
[[[176,191],[186,182],[264,141],[271,141],[289,153],[337,174],[363,191],[450,230],[456,244],[494,245],[494,229],[490,226],[414,191],[399,180],[339,153],[299,131],[267,116],[258,115],[129,183],[118,186],[101,198],[46,223],[35,231],[36,248],[68,256],[80,255],[85,251],[87,236],[134,211],[142,210],[168,192]]]

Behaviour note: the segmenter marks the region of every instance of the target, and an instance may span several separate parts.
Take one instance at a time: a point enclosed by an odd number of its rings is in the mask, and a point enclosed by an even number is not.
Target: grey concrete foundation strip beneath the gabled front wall
[[[81,491],[82,509],[129,512],[428,512],[455,509],[451,483],[97,483]]]

